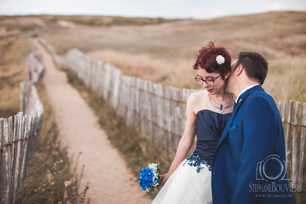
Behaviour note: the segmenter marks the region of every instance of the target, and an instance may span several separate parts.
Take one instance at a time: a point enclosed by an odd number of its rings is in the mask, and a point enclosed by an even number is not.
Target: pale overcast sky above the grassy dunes
[[[267,11],[305,11],[305,0],[1,0],[0,15],[56,14],[209,19]]]

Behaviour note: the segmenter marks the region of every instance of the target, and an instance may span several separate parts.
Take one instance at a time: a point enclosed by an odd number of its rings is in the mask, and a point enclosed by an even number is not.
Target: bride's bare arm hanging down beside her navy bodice
[[[188,97],[187,104],[186,104],[186,114],[187,120],[185,125],[184,134],[180,139],[180,142],[177,146],[177,151],[175,157],[172,161],[170,169],[168,173],[171,175],[174,170],[180,165],[180,163],[188,156],[188,153],[192,147],[194,137],[196,134],[196,115],[194,114],[194,107],[195,107],[195,94],[191,94]]]

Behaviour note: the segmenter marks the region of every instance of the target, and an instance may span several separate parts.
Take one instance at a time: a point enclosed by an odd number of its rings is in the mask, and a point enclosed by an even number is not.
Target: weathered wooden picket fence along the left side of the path
[[[20,83],[20,109],[17,115],[0,118],[0,203],[20,203],[37,139],[44,109],[39,100],[38,80],[43,66],[38,53],[27,58],[29,81]]]

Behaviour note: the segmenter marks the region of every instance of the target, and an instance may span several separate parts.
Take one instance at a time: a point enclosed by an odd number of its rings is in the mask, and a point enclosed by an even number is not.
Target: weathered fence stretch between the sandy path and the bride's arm
[[[144,137],[153,135],[157,142],[166,144],[169,153],[175,152],[185,128],[188,96],[200,89],[163,86],[124,75],[120,69],[77,49],[61,57],[45,39],[40,37],[39,41],[54,55],[58,65],[73,69],[84,83],[103,94],[128,124]]]

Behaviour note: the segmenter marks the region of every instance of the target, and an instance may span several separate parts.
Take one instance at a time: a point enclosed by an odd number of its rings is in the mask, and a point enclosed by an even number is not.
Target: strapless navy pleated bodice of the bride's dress
[[[196,149],[192,155],[211,165],[215,149],[231,113],[217,113],[212,110],[200,110],[196,114]]]

